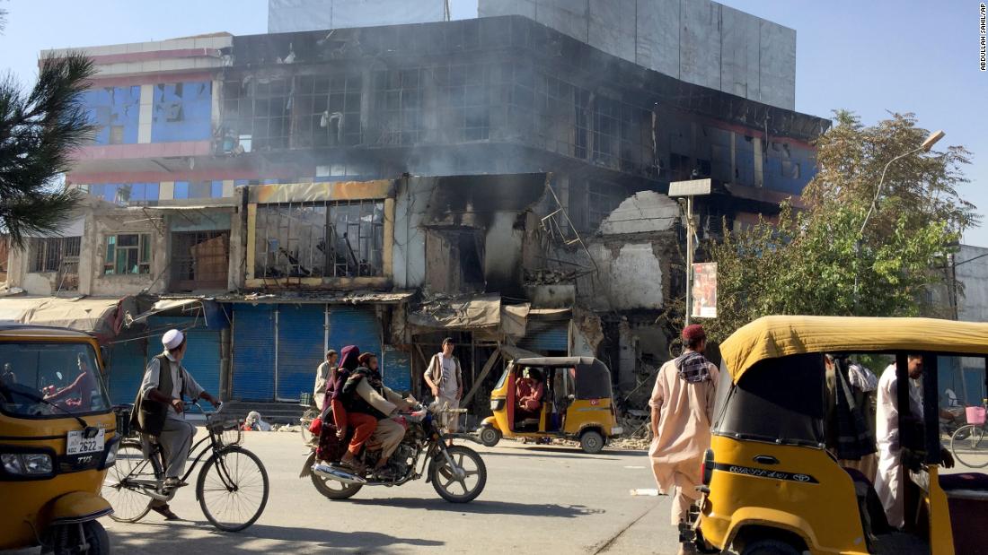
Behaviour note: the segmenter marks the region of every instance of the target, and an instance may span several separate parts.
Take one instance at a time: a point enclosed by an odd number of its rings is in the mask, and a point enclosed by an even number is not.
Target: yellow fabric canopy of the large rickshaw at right
[[[720,353],[738,382],[758,362],[804,353],[909,351],[988,354],[988,323],[936,318],[764,316],[731,334]]]

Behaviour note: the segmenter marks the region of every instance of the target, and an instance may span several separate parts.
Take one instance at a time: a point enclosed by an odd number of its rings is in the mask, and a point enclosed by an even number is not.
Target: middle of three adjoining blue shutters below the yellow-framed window
[[[278,400],[297,401],[312,391],[325,342],[325,305],[278,306]]]

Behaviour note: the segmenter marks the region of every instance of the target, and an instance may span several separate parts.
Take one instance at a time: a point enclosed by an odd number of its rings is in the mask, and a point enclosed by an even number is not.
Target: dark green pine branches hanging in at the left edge
[[[0,80],[0,234],[14,245],[56,233],[75,206],[76,191],[60,177],[94,129],[80,98],[94,71],[89,58],[73,53],[41,60],[27,93],[11,76]]]

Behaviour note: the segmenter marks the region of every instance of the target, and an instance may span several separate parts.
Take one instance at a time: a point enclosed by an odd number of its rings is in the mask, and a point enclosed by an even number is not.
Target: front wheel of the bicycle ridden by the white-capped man
[[[268,471],[241,447],[214,453],[199,473],[196,495],[213,526],[228,532],[253,524],[268,504]]]

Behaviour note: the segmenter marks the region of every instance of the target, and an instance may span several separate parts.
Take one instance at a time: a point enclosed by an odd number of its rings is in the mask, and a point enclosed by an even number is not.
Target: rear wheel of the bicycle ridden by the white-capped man
[[[126,485],[125,480],[156,480],[154,467],[144,458],[140,443],[125,441],[117,450],[116,463],[107,469],[103,480],[103,499],[114,508],[110,518],[118,522],[136,522],[151,510],[151,499]]]

